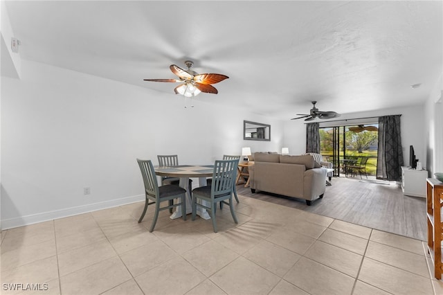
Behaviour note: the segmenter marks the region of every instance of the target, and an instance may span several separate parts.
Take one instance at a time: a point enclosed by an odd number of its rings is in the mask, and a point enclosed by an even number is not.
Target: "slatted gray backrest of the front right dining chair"
[[[233,193],[238,162],[239,159],[215,161],[211,197]]]

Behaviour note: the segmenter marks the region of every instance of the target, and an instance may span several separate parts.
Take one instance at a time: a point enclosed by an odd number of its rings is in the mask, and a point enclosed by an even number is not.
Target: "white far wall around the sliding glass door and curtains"
[[[336,108],[338,111],[340,107]],[[399,107],[396,109],[381,109],[379,111],[363,111],[352,114],[342,114],[334,120],[350,118],[365,118],[401,114],[401,145],[403,147],[404,164],[409,164],[409,145],[414,146],[415,155],[419,161],[426,159],[424,146],[424,106]],[[320,120],[318,120],[320,121]],[[327,120],[326,120],[327,121]],[[377,121],[377,119],[376,119]],[[321,121],[320,121],[321,122]],[[350,120],[350,123],[355,123]],[[337,125],[343,125],[345,121],[338,121]],[[287,120],[284,123],[284,145],[289,147],[291,154],[301,154],[306,150],[306,125],[304,120]]]

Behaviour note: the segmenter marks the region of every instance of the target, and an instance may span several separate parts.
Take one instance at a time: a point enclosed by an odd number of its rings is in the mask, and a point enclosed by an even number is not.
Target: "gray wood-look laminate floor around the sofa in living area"
[[[426,198],[404,196],[398,184],[334,177],[323,199],[305,200],[269,193],[251,193],[243,185],[237,193],[266,202],[298,208],[345,222],[368,226],[409,238],[426,240]]]

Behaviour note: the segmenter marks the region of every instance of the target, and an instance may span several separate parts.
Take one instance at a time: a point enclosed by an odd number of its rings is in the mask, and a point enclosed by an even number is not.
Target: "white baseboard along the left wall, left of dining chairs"
[[[11,218],[9,220],[1,220],[1,229],[13,229],[19,226],[25,226],[29,224],[35,224],[38,222],[46,222],[48,220],[56,220],[58,218],[69,217],[73,215],[79,215],[83,213],[89,213],[92,211],[98,211],[106,208],[112,208],[116,206],[131,204],[145,200],[145,195],[136,195],[132,197],[123,197],[121,199],[112,199],[105,202],[99,202],[94,204],[88,204],[84,206],[77,206],[72,208],[66,208],[57,211],[49,211],[44,213],[38,213],[33,215],[27,215],[17,218]]]

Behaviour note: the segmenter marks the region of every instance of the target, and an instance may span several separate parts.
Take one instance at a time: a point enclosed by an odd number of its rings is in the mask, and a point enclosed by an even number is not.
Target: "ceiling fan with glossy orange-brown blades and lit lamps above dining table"
[[[176,94],[181,94],[186,97],[197,96],[200,92],[217,94],[219,91],[211,84],[221,82],[229,77],[217,73],[203,73],[199,74],[191,70],[194,62],[186,60],[185,65],[188,70],[185,71],[175,64],[169,67],[175,75],[179,76],[177,79],[143,79],[152,82],[179,82],[183,83],[174,88]]]

